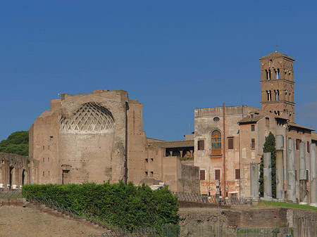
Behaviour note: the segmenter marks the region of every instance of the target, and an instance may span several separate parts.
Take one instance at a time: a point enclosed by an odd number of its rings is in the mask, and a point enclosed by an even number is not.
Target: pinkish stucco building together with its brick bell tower
[[[261,161],[269,132],[283,136],[284,164],[287,139],[296,141],[295,173],[299,173],[299,143],[306,144],[306,174],[309,176],[309,144],[317,142],[316,133],[294,122],[294,59],[275,52],[260,58],[260,62],[261,109],[223,105],[194,111],[194,165],[200,167],[203,194],[209,193],[209,184],[220,181],[228,187],[228,196],[249,197],[250,162],[259,164]],[[286,195],[286,165],[284,174]],[[298,178],[296,186],[298,190]]]

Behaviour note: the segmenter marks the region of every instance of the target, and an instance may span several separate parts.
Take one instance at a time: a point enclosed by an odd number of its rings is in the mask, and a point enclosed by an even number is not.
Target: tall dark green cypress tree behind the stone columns
[[[272,167],[272,197],[276,198],[276,150],[275,150],[275,137],[270,132],[268,136],[266,136],[266,142],[263,145],[263,153],[271,152],[271,167]],[[263,155],[261,156],[260,163],[260,178],[259,178],[259,191],[260,196],[263,197],[264,192],[264,177],[263,177]]]

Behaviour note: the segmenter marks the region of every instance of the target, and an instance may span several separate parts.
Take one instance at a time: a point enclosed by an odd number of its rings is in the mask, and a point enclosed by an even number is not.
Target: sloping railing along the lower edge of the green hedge
[[[57,210],[58,212],[67,214],[68,216],[73,217],[74,219],[87,219],[89,222],[92,222],[93,224],[98,224],[99,226],[102,226],[105,229],[108,229],[107,232],[102,233],[101,235],[97,235],[95,237],[99,237],[99,236],[138,237],[138,236],[144,236],[144,235],[155,236],[156,230],[154,227],[145,227],[145,228],[133,229],[133,231],[128,231],[125,228],[117,226],[116,224],[111,224],[105,219],[102,219],[101,217],[98,217],[97,215],[92,214],[90,212],[86,212],[85,210],[73,210],[70,207],[66,207],[65,205],[61,203],[57,203],[56,201],[51,200],[49,198],[37,197],[37,196],[31,195],[30,193],[27,193],[25,190],[22,191],[22,196],[23,198],[26,198],[26,200],[29,201],[30,203],[33,203],[33,204],[41,203],[43,205],[46,205],[47,207]]]

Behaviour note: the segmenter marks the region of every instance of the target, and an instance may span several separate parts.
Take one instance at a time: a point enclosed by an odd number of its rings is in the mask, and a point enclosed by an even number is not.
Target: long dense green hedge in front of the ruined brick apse
[[[152,191],[149,186],[118,184],[25,185],[23,189],[39,198],[46,197],[73,210],[97,214],[111,224],[135,227],[177,224],[178,201],[168,188]]]

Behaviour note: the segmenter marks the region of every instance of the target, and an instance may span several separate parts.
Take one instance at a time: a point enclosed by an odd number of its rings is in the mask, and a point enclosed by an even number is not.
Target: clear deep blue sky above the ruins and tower
[[[259,58],[295,58],[295,120],[317,129],[316,1],[0,1],[0,141],[58,93],[123,89],[147,136],[182,140],[194,108],[260,108]]]

